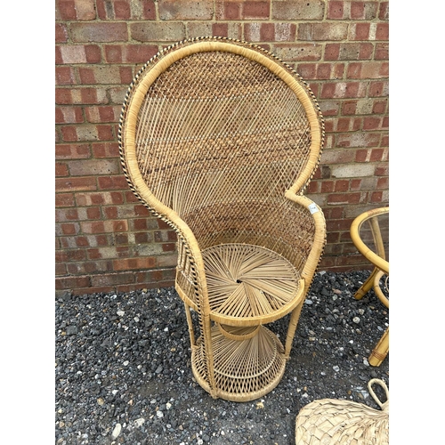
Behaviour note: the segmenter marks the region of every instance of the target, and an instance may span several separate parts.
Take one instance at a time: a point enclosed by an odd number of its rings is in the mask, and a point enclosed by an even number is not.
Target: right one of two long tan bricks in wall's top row
[[[272,20],[321,20],[325,3],[320,0],[273,0]]]

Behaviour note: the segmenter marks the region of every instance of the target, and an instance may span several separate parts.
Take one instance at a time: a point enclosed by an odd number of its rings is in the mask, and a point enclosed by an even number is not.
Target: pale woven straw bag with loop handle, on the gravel
[[[380,384],[384,388],[387,399],[384,403],[376,397],[373,384]],[[368,382],[368,389],[381,410],[337,399],[308,403],[295,420],[295,444],[388,445],[388,387],[382,380],[373,378]]]

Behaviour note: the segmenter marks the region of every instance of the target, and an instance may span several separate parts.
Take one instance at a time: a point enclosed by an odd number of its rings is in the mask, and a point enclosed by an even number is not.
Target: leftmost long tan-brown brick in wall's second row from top
[[[73,42],[126,42],[128,32],[124,22],[71,23]]]

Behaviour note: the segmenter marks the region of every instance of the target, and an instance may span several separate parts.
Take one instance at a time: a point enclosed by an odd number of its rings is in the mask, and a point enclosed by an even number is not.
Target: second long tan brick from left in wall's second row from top
[[[185,38],[185,25],[180,21],[130,23],[132,39],[138,42],[176,42]]]

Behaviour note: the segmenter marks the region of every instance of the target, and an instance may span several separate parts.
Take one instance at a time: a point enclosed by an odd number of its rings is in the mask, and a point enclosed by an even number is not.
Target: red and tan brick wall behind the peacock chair
[[[320,269],[368,269],[349,235],[388,204],[387,1],[56,0],[56,292],[174,283],[174,233],[134,198],[117,123],[134,74],[192,36],[262,44],[307,80],[327,143],[308,196],[323,209]]]

